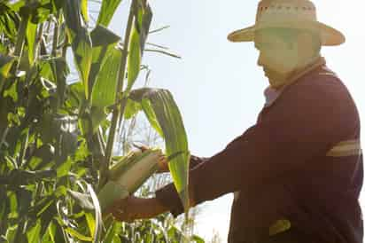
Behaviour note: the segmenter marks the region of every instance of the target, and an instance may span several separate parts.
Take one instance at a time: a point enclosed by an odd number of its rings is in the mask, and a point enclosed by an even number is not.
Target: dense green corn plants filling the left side
[[[116,130],[140,111],[165,140],[188,215],[190,154],[182,117],[168,90],[134,88],[151,7],[131,0],[120,38],[107,28],[120,0],[101,2],[94,27],[88,4],[0,2],[1,241],[140,242],[145,233],[128,239],[127,223],[103,222],[97,198],[120,161],[113,154]],[[69,67],[78,72],[74,83],[67,82]]]

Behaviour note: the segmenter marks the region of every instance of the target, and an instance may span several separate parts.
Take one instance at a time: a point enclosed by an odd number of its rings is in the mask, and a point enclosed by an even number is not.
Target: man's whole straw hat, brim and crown
[[[299,28],[315,31],[322,45],[345,43],[345,36],[337,29],[317,21],[315,4],[309,0],[262,0],[259,3],[256,23],[228,35],[231,42],[252,42],[254,32],[269,27]]]

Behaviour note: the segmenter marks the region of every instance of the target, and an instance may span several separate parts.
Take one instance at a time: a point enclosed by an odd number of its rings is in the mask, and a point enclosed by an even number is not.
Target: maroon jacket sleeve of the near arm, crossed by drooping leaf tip
[[[260,122],[191,169],[189,190],[194,204],[315,166],[307,161],[352,134],[357,125],[352,98],[337,80],[320,82],[301,82],[285,90]],[[156,196],[174,216],[182,213],[173,184]]]

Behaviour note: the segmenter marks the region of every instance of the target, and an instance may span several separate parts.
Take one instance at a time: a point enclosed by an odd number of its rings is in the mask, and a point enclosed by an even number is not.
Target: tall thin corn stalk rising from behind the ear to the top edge
[[[115,94],[115,103],[119,103],[119,100],[121,99],[121,105],[120,109],[114,109],[113,110],[113,117],[112,117],[112,125],[110,128],[108,141],[106,143],[106,149],[105,149],[105,160],[101,164],[100,168],[100,181],[99,181],[99,189],[101,186],[103,186],[106,183],[107,176],[108,176],[108,169],[109,164],[112,159],[112,153],[113,153],[113,145],[114,145],[114,137],[115,132],[117,130],[118,121],[120,119],[120,114],[124,113],[125,105],[123,105],[124,95],[122,95],[122,98],[120,98],[120,93],[123,90],[123,84],[124,84],[124,77],[126,74],[126,66],[127,66],[127,57],[128,57],[128,43],[129,43],[129,35],[133,27],[133,20],[134,20],[134,6],[135,6],[136,0],[132,0],[132,3],[130,4],[129,8],[129,15],[128,15],[128,22],[127,22],[127,29],[124,36],[124,48],[121,55],[120,60],[120,68],[118,72],[118,84],[117,84],[117,91]],[[126,99],[127,100],[127,99]]]

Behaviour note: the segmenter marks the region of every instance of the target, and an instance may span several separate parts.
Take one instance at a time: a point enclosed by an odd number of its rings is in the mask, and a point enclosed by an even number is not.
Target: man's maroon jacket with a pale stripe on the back
[[[198,204],[239,192],[229,243],[255,242],[278,219],[289,219],[311,243],[361,243],[361,153],[328,155],[352,139],[360,139],[353,98],[327,67],[316,67],[223,151],[204,162],[192,157],[190,195]],[[173,184],[156,197],[174,216],[183,212]]]

